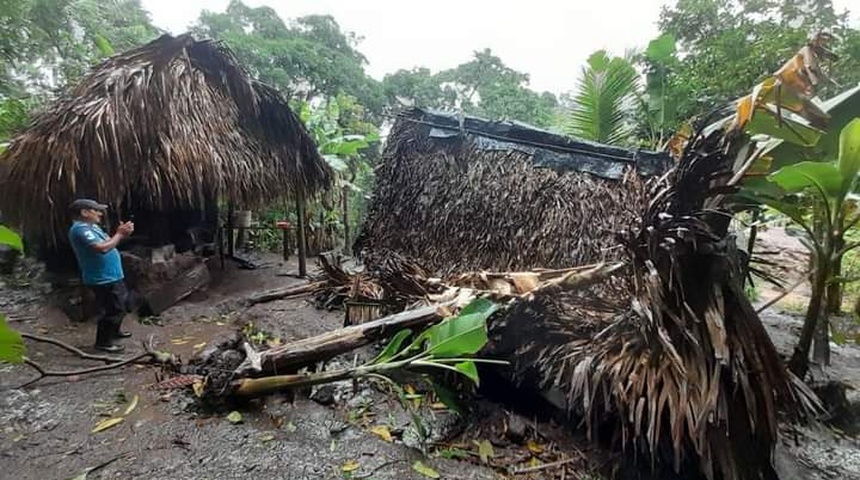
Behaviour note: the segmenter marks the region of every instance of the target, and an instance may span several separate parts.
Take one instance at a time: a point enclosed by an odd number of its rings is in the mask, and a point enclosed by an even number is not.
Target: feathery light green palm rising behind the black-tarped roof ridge
[[[630,110],[639,89],[639,74],[628,58],[599,50],[588,58],[573,98],[565,133],[611,145],[627,145],[633,129]]]

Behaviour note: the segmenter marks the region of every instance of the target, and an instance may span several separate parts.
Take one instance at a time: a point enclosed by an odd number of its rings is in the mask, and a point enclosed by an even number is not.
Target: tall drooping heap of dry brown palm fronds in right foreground
[[[698,135],[652,185],[643,227],[624,238],[629,307],[580,318],[570,310],[581,302],[540,299],[494,324],[490,352],[512,353],[504,337],[517,332],[533,339],[516,348],[517,378],[564,392],[595,438],[608,431],[604,440],[709,479],[774,478],[780,412],[796,418],[816,401],[743,293],[728,231],[735,153],[722,132]]]

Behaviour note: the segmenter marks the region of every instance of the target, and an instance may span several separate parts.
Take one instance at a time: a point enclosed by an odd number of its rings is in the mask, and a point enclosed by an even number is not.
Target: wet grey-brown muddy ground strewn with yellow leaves
[[[294,270],[295,265],[277,262],[251,271],[213,268],[213,283],[206,293],[174,306],[157,322],[129,317],[126,326],[135,335],[127,342],[130,350],[141,350],[139,341],[152,337],[159,348],[187,359],[246,323],[282,341],[340,327],[341,312],[317,310],[309,299],[235,307],[237,298],[251,292],[300,282],[285,275]],[[0,311],[10,316],[13,327],[81,348],[90,346],[92,323],[70,323],[46,304],[46,289],[36,279],[29,285],[16,283],[22,282],[0,278]],[[777,346],[787,352],[799,329],[797,315],[781,312],[778,306],[763,318]],[[51,346],[28,347],[33,359],[54,369],[92,365]],[[350,361],[351,357],[337,360]],[[151,388],[157,375],[152,367],[44,379],[25,389],[16,387],[32,378],[31,370],[0,368],[0,478],[72,479],[93,467],[99,468],[89,473],[89,479],[428,478],[413,468],[420,461],[446,479],[597,479],[601,478],[597,471],[605,471],[606,462],[611,462],[589,451],[584,440],[564,426],[512,415],[508,407],[489,399],[475,400],[474,412],[466,418],[429,405],[428,399],[419,411],[429,438],[421,442],[415,422],[396,398],[365,383],[338,384],[316,392],[316,400],[279,395],[201,411],[186,391]],[[834,368],[827,374],[849,383],[855,389],[849,395],[856,396],[860,349],[837,346]],[[122,423],[91,432],[98,422],[122,415],[135,396],[138,404]],[[227,420],[233,409],[242,413],[241,423]],[[523,438],[512,441],[512,422],[526,425]],[[390,439],[383,438],[385,432]],[[783,480],[860,479],[856,432],[825,427],[786,432],[777,452]],[[539,469],[541,464],[568,459],[575,461],[563,468]],[[528,469],[533,471],[511,475]]]

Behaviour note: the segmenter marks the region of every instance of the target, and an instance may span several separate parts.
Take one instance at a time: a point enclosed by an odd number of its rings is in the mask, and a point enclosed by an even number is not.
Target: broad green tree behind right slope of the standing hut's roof
[[[271,7],[230,2],[224,13],[204,10],[192,31],[224,40],[252,74],[289,96],[310,100],[347,93],[370,113],[384,103],[379,82],[364,71],[360,38],[329,15],[286,23]]]

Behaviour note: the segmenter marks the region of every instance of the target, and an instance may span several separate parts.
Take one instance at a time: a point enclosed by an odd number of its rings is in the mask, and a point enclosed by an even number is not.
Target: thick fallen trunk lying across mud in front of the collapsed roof
[[[423,327],[443,318],[440,309],[453,305],[444,302],[407,310],[372,322],[340,328],[315,337],[303,338],[260,352],[260,368],[246,359],[235,370],[240,377],[275,375],[336,357],[341,353],[387,338],[404,328]]]

